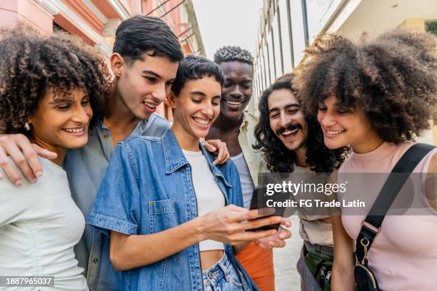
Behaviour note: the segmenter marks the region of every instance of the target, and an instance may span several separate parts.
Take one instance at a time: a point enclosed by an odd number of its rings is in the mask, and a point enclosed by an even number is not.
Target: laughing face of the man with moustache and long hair
[[[303,148],[308,126],[301,105],[291,90],[275,90],[268,96],[268,118],[271,130],[288,150]]]

